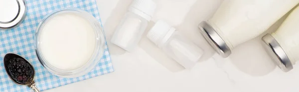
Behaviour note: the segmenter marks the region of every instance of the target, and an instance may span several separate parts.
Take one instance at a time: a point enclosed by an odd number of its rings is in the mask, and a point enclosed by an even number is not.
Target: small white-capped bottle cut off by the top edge
[[[134,0],[124,18],[118,24],[111,43],[132,51],[138,46],[148,26],[156,4],[152,0]]]

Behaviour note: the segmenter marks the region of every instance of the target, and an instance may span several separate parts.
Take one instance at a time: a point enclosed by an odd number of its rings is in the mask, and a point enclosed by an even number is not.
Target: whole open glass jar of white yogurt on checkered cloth
[[[52,74],[73,78],[91,71],[104,53],[101,24],[80,9],[64,9],[45,17],[39,24],[36,54]]]

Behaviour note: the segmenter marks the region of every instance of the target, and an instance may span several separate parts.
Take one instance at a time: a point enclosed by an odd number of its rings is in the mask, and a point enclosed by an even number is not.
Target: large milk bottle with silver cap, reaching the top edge
[[[222,57],[266,31],[295,7],[299,0],[224,0],[199,28],[205,39]]]

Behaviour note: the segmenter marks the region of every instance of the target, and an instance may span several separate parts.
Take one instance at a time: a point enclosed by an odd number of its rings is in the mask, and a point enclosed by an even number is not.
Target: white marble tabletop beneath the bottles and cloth
[[[132,0],[97,0],[107,39]],[[205,50],[191,70],[183,70],[143,38],[134,52],[110,45],[115,72],[44,92],[298,92],[299,68],[284,73],[271,62],[260,37],[221,59],[207,46],[197,24],[207,20],[222,0],[154,0],[157,10],[148,29],[159,19],[173,25]],[[282,19],[283,20],[283,19]],[[273,32],[280,22],[269,29]],[[109,42],[109,41],[108,41]]]

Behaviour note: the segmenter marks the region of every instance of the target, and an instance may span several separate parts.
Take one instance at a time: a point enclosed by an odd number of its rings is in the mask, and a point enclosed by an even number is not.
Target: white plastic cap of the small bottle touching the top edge
[[[129,8],[129,11],[150,21],[155,8],[156,3],[152,0],[134,0]]]

